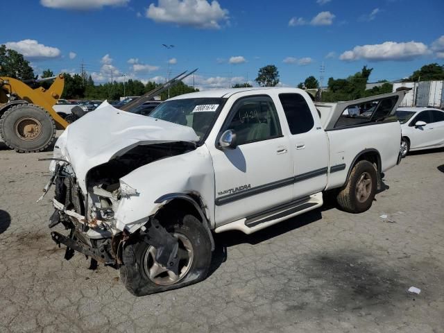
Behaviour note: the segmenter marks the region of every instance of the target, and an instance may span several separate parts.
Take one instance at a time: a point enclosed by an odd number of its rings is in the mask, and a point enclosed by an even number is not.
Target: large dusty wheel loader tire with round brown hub
[[[19,104],[1,116],[0,135],[6,146],[19,153],[44,151],[56,137],[56,123],[44,108]]]

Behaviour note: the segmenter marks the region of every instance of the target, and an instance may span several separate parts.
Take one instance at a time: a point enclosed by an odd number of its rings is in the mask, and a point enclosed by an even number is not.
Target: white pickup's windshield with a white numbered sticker
[[[223,104],[223,99],[176,99],[166,101],[150,117],[178,123],[194,129],[199,139],[210,131],[216,112]]]

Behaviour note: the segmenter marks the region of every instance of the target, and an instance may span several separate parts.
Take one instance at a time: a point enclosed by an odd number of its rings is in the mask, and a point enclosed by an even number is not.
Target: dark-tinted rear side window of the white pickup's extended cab
[[[291,134],[307,133],[314,126],[313,115],[300,94],[279,94]]]

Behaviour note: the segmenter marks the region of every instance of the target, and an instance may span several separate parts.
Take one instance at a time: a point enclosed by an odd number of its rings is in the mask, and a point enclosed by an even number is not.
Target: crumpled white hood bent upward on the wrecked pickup
[[[89,169],[135,146],[198,140],[190,127],[121,111],[104,102],[67,127],[56,143],[54,157],[65,157],[71,162],[85,191]]]

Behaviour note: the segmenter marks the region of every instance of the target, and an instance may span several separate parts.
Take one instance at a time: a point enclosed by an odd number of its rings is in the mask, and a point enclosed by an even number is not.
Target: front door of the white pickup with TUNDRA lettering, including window
[[[293,164],[287,137],[270,96],[248,96],[232,106],[221,128],[236,135],[236,148],[209,147],[216,183],[216,225],[287,203]]]

